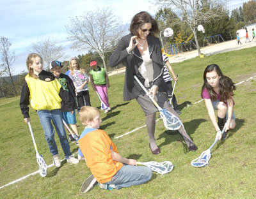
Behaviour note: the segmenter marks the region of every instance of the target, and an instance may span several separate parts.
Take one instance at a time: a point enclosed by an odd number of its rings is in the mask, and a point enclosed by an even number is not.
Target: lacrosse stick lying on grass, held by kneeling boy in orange
[[[156,161],[149,161],[145,163],[137,162],[138,165],[148,166],[152,171],[159,174],[169,173],[173,170],[173,164],[170,161],[164,161],[163,163],[157,163]]]

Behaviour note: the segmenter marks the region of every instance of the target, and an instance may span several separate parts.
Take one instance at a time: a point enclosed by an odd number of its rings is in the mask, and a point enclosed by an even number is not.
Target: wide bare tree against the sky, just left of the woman
[[[83,15],[70,18],[66,26],[68,39],[73,41],[72,47],[97,52],[106,68],[106,54],[113,50],[124,28],[120,20],[109,8],[96,9]]]

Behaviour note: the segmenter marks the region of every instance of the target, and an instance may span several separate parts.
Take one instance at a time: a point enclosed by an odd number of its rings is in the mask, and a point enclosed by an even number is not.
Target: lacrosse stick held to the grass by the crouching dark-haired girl
[[[222,135],[224,133],[225,129],[222,130]],[[214,145],[219,141],[218,138],[215,139],[214,143],[207,149],[206,151],[202,152],[202,154],[191,161],[191,165],[195,167],[202,167],[209,165],[209,159],[211,158],[211,149],[214,147]]]

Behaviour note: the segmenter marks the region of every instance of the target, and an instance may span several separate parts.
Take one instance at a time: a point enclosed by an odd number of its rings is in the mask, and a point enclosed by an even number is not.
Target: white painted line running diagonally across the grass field
[[[236,85],[243,84],[244,82],[247,82],[247,81],[251,80],[251,79],[254,78],[254,77],[256,77],[256,75],[254,75],[253,77],[248,78],[247,80],[243,80],[243,81],[237,83]],[[203,101],[203,100],[204,100],[204,99],[200,99],[199,101],[194,102],[193,105],[195,105],[196,103],[200,103],[200,102]],[[191,106],[191,104],[187,105],[185,108],[190,107],[190,106]],[[159,120],[160,120],[160,119],[157,119],[156,122],[159,121]],[[130,134],[130,133],[132,133],[132,132],[134,132],[134,131],[137,131],[138,129],[144,128],[144,127],[146,127],[146,125],[140,126],[140,127],[136,128],[136,129],[133,129],[132,131],[129,131],[129,132],[127,132],[127,133],[124,133],[123,135],[116,136],[114,139],[121,138],[122,136],[128,135],[128,134]],[[64,159],[62,159],[61,161],[63,161],[63,160],[64,160]],[[50,167],[52,167],[52,166],[53,166],[53,164],[47,166],[47,168],[50,168]],[[14,184],[14,183],[16,183],[16,182],[22,181],[23,179],[26,179],[27,177],[29,177],[29,176],[31,176],[31,175],[35,175],[36,173],[39,173],[39,170],[36,171],[36,172],[30,173],[30,174],[28,174],[28,175],[26,175],[26,176],[24,176],[24,177],[21,177],[20,179],[17,179],[17,180],[15,180],[15,181],[9,182],[8,184],[5,184],[4,186],[1,186],[0,189],[4,188],[4,187],[6,187],[6,186],[9,186],[10,184]]]

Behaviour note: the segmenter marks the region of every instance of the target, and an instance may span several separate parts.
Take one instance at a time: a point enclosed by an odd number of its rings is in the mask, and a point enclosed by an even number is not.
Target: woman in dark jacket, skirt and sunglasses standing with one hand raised
[[[161,151],[154,137],[158,110],[134,79],[136,75],[161,108],[167,108],[173,115],[179,117],[170,106],[162,86],[164,81],[161,43],[154,36],[159,33],[159,28],[156,20],[149,13],[141,11],[132,18],[130,31],[130,34],[119,41],[115,52],[109,58],[109,65],[114,67],[125,59],[124,101],[136,98],[140,104],[147,117],[149,147],[153,154],[159,154]],[[195,151],[196,146],[185,129],[181,127],[179,132],[188,145],[189,151]]]

